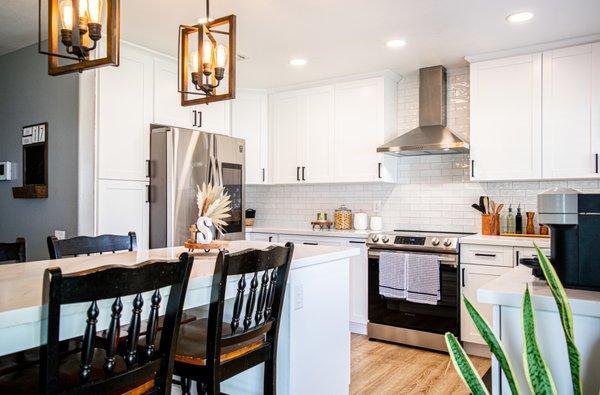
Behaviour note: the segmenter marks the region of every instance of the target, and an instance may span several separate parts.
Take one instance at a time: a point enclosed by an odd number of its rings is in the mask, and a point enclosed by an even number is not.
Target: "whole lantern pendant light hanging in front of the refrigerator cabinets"
[[[209,0],[205,21],[179,26],[178,91],[182,106],[235,98],[235,45],[235,15],[210,19]]]

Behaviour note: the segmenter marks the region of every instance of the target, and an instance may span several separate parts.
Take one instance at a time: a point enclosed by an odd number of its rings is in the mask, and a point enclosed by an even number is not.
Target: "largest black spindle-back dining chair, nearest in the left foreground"
[[[19,394],[168,394],[171,390],[173,357],[187,284],[194,258],[187,253],[179,260],[147,261],[134,266],[103,266],[78,273],[62,274],[46,269],[43,280],[43,319],[40,363],[0,377],[0,393]],[[162,336],[156,342],[158,311],[166,299]],[[145,292],[151,293],[144,303]],[[164,292],[164,291],[163,291]],[[102,302],[110,304],[108,325],[111,347],[94,344]],[[61,309],[64,305],[86,303],[85,329],[81,350],[61,354]],[[87,304],[89,303],[89,304]],[[132,314],[124,347],[118,342],[124,304]],[[141,341],[141,315],[148,306],[146,336]]]

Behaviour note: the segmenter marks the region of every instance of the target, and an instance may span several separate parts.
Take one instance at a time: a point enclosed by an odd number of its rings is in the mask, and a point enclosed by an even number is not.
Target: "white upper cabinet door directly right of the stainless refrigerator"
[[[267,96],[241,93],[231,103],[231,135],[246,140],[246,183],[267,181]]]

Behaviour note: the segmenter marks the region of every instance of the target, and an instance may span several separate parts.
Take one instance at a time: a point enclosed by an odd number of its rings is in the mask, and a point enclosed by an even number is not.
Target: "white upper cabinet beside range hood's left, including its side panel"
[[[396,81],[378,77],[335,86],[334,180],[394,182],[397,159],[377,147],[397,135]]]

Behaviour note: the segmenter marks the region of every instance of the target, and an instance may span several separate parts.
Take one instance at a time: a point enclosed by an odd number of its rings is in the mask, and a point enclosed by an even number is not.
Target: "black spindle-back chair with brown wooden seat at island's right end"
[[[260,363],[265,363],[264,393],[275,393],[277,336],[293,252],[294,245],[287,243],[219,253],[208,318],[179,330],[174,374],[180,376],[184,394],[190,393],[191,381],[199,394],[219,394],[222,381]],[[223,322],[225,287],[231,276],[240,278],[232,319]]]

